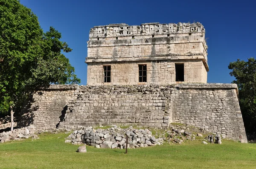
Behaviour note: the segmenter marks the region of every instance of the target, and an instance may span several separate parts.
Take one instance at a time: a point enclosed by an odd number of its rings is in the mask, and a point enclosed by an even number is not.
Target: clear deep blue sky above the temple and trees
[[[206,29],[208,83],[230,83],[227,68],[237,59],[256,56],[254,0],[20,0],[38,16],[44,31],[53,26],[73,51],[65,54],[86,85],[90,28],[110,23],[200,22]]]

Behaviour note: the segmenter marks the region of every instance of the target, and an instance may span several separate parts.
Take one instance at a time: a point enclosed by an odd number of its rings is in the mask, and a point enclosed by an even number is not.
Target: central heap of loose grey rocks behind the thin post
[[[108,129],[93,129],[87,127],[84,130],[75,130],[67,138],[65,143],[87,144],[97,148],[126,148],[126,136],[128,137],[127,148],[147,147],[163,144],[163,138],[155,138],[149,129],[121,129],[113,125]]]

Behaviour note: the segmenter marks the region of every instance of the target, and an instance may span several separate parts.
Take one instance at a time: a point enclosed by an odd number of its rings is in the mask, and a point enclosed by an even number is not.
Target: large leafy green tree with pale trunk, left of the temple
[[[0,113],[13,117],[26,86],[80,82],[61,53],[72,49],[60,39],[52,27],[44,33],[37,16],[19,0],[0,0]]]

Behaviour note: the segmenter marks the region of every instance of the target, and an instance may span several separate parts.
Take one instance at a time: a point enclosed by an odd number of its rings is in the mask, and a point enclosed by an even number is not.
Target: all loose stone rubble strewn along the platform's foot
[[[87,144],[89,146],[95,146],[96,148],[126,148],[126,136],[128,136],[128,148],[139,148],[147,146],[162,145],[164,142],[169,144],[182,144],[186,140],[195,140],[196,137],[203,139],[203,134],[206,131],[199,130],[197,128],[192,128],[190,130],[189,126],[170,126],[170,130],[155,130],[156,134],[152,135],[152,129],[135,129],[132,126],[121,129],[116,125],[112,125],[108,129],[93,129],[93,127],[86,127],[85,129],[73,131],[66,139],[65,143],[72,143],[74,145]],[[50,132],[52,134],[63,132],[60,129],[51,130],[36,130],[34,126],[23,127],[20,129],[14,129],[12,132],[2,132],[0,133],[0,143],[4,143],[12,140],[20,140],[22,138],[38,139],[37,134],[42,132]],[[199,132],[201,133],[199,133]],[[197,132],[197,134],[193,134]],[[65,132],[69,133],[69,132]],[[220,135],[208,135],[204,138],[204,144],[209,143],[221,144]],[[85,151],[86,148],[80,148],[81,152]],[[78,149],[78,152],[80,150]]]

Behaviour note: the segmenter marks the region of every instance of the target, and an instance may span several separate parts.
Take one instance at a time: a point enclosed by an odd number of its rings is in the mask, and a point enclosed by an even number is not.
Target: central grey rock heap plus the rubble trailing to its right
[[[147,146],[161,145],[164,142],[169,144],[182,144],[187,140],[195,140],[196,138],[204,139],[201,133],[196,135],[185,126],[171,126],[167,131],[156,130],[156,135],[152,135],[151,129],[134,129],[132,126],[121,129],[116,125],[112,125],[108,129],[93,129],[86,127],[85,129],[75,130],[67,138],[65,143],[74,145],[87,144],[96,148],[126,148],[126,135],[128,136],[128,148],[139,148]],[[184,130],[186,129],[186,130]],[[198,129],[194,129],[193,132]],[[205,134],[205,131],[201,131]],[[166,137],[167,136],[167,137]],[[213,135],[211,135],[213,141]],[[208,137],[207,137],[208,139]],[[209,139],[208,139],[209,140]],[[215,136],[215,143],[221,144],[219,135]],[[206,142],[207,140],[204,140]],[[220,143],[219,143],[220,142]],[[212,142],[213,143],[213,142]]]

